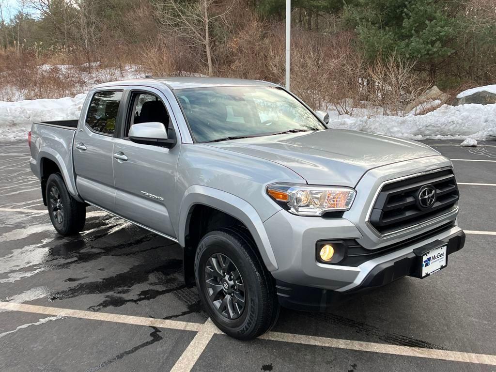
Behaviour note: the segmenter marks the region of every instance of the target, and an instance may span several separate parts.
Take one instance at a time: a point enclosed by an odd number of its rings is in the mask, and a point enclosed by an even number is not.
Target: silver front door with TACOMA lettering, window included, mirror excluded
[[[176,238],[171,216],[175,213],[176,165],[181,140],[171,149],[131,142],[133,124],[160,122],[169,137],[179,131],[167,98],[157,89],[135,87],[127,95],[128,108],[120,138],[114,146],[115,212],[124,218]]]

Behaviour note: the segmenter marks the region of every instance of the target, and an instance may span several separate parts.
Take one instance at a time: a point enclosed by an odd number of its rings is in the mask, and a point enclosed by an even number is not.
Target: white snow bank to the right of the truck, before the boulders
[[[496,137],[495,105],[443,105],[426,115],[336,117],[330,112],[329,126],[361,130],[409,139],[493,139]]]

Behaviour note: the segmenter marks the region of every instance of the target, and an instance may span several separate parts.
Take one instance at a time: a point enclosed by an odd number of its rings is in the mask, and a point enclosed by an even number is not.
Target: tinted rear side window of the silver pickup
[[[114,134],[122,95],[121,91],[95,93],[88,109],[86,125],[96,132]]]

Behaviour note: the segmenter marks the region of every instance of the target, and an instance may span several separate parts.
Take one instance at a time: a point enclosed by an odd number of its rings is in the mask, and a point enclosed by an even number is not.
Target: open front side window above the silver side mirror
[[[169,114],[160,98],[150,93],[135,92],[131,102],[132,111],[126,123],[124,137],[128,136],[133,124],[159,122],[169,129]]]

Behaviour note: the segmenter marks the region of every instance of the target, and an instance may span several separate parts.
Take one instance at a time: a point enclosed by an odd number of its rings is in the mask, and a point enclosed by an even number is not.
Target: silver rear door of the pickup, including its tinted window
[[[113,210],[115,185],[113,149],[116,128],[122,116],[122,89],[93,93],[84,124],[76,131],[73,144],[76,187],[81,197]]]

